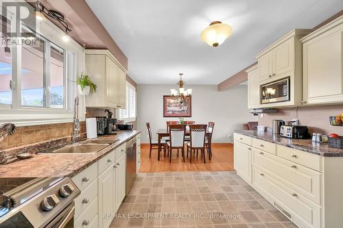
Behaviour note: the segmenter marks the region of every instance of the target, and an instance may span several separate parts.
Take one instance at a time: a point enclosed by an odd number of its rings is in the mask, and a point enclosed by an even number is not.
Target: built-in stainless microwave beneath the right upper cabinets
[[[260,86],[261,104],[290,101],[290,77]]]

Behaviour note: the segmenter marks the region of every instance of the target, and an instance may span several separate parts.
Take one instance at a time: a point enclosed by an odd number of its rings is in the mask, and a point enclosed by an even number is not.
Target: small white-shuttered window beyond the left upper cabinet
[[[119,119],[124,121],[136,120],[136,88],[126,82],[126,105],[125,110],[119,110]]]

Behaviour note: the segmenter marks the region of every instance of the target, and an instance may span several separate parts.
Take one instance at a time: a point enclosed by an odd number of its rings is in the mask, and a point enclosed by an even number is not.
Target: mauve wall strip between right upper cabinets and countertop
[[[281,119],[287,122],[292,118],[298,118],[299,124],[307,125],[310,132],[343,135],[343,127],[334,127],[329,123],[329,116],[342,113],[343,105],[285,108],[280,109],[277,114],[263,114],[263,118],[259,115],[259,125],[272,127],[272,120],[274,119]]]

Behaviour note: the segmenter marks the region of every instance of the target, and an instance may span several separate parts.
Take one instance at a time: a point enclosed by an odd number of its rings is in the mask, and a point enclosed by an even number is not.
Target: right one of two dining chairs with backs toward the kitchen
[[[206,129],[207,125],[190,125],[189,126],[189,134],[191,136],[191,140],[187,142],[187,157],[188,153],[190,152],[189,160],[192,163],[192,152],[201,151],[202,157],[204,157],[204,163],[206,163],[206,156],[205,156],[205,136],[206,136]]]

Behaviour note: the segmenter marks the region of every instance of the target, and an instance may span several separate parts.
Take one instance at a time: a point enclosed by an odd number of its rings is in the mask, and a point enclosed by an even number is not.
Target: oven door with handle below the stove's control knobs
[[[71,203],[58,216],[54,218],[45,228],[73,228],[75,205]]]

